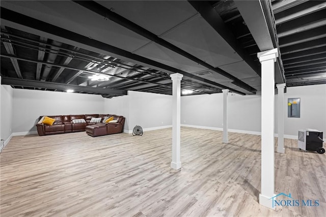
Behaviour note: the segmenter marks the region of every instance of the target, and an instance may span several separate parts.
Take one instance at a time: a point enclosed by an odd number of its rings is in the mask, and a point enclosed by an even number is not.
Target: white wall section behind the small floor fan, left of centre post
[[[136,125],[144,130],[172,126],[172,96],[128,91],[128,96],[106,99],[105,111],[125,116],[126,131]]]

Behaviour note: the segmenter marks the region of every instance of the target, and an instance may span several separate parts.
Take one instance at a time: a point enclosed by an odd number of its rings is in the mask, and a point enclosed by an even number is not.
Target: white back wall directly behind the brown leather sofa
[[[104,113],[100,95],[13,89],[13,133],[35,133],[39,116]],[[18,135],[17,134],[17,135]]]

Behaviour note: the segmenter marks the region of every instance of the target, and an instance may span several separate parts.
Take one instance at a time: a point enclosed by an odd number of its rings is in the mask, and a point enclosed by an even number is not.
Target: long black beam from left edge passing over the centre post
[[[244,92],[230,88],[223,84],[219,84],[210,81],[208,79],[193,75],[191,73],[184,72],[182,70],[170,67],[168,65],[158,63],[155,60],[148,59],[146,57],[137,54],[133,54],[126,50],[96,41],[94,39],[90,39],[86,36],[73,33],[67,29],[63,29],[58,26],[51,25],[49,23],[43,22],[38,19],[34,19],[32,17],[17,13],[15,11],[3,7],[0,7],[0,9],[1,9],[1,13],[0,13],[1,23],[6,26],[13,26],[13,28],[22,29],[25,32],[32,33],[35,35],[44,35],[44,37],[46,36],[47,38],[61,41],[63,43],[70,44],[76,47],[84,48],[86,50],[91,50],[93,52],[102,53],[110,56],[116,56],[117,58],[125,59],[127,61],[131,61],[134,63],[139,63],[140,65],[148,66],[158,71],[180,73],[185,77],[192,78],[194,80],[212,86],[217,86],[221,89],[229,89],[231,92],[236,92],[239,95],[246,95],[244,94]]]

